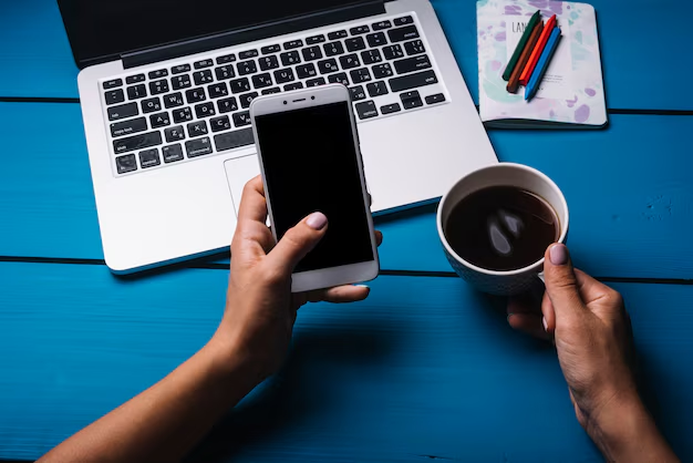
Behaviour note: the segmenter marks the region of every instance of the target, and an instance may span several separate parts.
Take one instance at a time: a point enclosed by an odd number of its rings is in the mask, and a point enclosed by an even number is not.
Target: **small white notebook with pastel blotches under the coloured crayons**
[[[562,40],[536,97],[525,101],[525,88],[508,93],[503,72],[529,18],[556,14]],[[594,8],[587,3],[548,0],[480,0],[477,2],[480,116],[488,127],[600,128],[607,125]]]

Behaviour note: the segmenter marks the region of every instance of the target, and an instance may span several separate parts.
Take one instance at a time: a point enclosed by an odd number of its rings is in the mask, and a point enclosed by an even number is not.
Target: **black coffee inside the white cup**
[[[488,270],[515,270],[539,260],[560,235],[554,208],[511,186],[479,189],[452,210],[445,238],[459,257]]]

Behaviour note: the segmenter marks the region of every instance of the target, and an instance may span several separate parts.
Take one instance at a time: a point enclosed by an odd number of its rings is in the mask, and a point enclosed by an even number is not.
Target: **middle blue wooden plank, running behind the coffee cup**
[[[35,136],[32,121],[51,124]],[[0,103],[0,256],[103,258],[76,104]],[[613,116],[600,132],[492,131],[501,161],[535,166],[565,191],[569,244],[600,276],[693,278],[690,116]],[[545,148],[547,147],[547,148]],[[554,150],[550,150],[551,147]],[[7,222],[6,222],[7,220]],[[382,266],[448,271],[435,206],[381,217]]]

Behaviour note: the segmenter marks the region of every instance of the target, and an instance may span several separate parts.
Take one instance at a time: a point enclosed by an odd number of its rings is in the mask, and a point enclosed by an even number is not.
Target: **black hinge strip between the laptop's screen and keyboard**
[[[267,39],[269,37],[319,28],[322,25],[334,24],[337,22],[351,21],[369,16],[382,14],[384,12],[384,0],[365,1],[328,11],[302,14],[300,17],[287,18],[281,21],[273,21],[250,28],[190,39],[185,42],[176,42],[136,52],[124,53],[121,55],[121,59],[123,60],[123,68],[131,69],[159,61],[172,60],[174,58],[216,50],[224,47],[231,47],[239,43]]]

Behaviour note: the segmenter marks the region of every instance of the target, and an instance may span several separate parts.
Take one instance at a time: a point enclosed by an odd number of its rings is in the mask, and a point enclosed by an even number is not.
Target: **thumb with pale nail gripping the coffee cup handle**
[[[585,308],[578,290],[578,280],[570,254],[565,245],[547,248],[544,259],[546,292],[551,300],[557,319]]]

